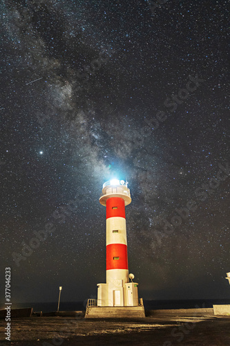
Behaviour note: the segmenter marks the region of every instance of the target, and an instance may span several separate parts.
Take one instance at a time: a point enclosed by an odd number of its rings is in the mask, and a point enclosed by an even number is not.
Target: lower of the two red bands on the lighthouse
[[[113,260],[119,257],[119,260]],[[106,271],[110,269],[128,269],[126,244],[109,244],[106,246]]]

